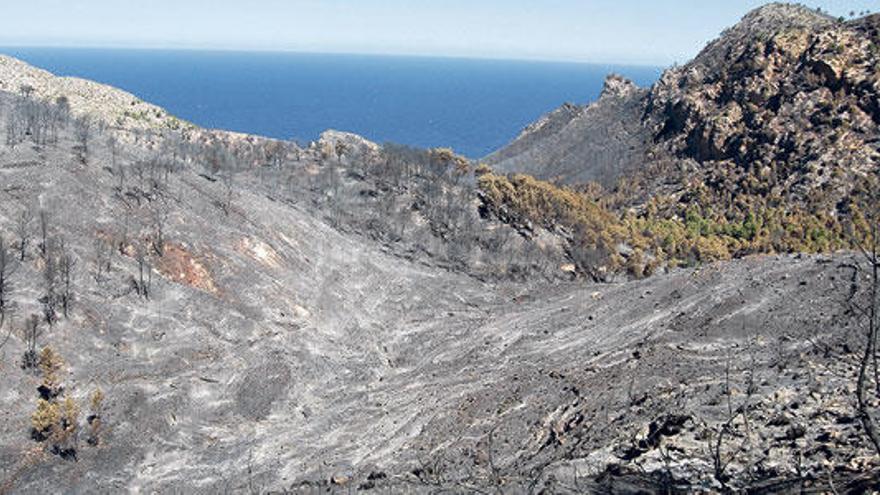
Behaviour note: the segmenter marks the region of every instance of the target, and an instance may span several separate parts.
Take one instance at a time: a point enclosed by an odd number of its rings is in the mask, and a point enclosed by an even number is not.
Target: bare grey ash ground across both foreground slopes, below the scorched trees
[[[39,377],[0,355],[10,493],[756,492],[870,486],[854,408],[853,258],[764,256],[613,284],[481,280],[345,233],[311,198],[241,172],[232,201],[171,174],[151,297],[128,250],[155,232],[96,145],[0,147],[0,231],[41,203],[79,260],[69,319],[41,345],[106,431],[75,461],[30,436]],[[126,145],[130,166],[145,153]],[[129,179],[126,191],[137,182]],[[303,192],[302,194],[307,194]],[[221,207],[222,206],[222,207]],[[127,227],[126,227],[127,225]],[[39,311],[36,247],[17,319]],[[724,426],[726,425],[726,427]],[[715,469],[713,445],[723,464]],[[720,478],[720,479],[719,479]],[[722,483],[723,481],[723,483]]]

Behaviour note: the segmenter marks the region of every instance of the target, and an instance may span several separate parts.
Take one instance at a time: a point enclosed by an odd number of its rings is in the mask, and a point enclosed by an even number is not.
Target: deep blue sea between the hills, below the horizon
[[[482,157],[616,72],[657,67],[267,52],[0,48],[58,75],[110,84],[203,127],[300,141],[326,129]]]

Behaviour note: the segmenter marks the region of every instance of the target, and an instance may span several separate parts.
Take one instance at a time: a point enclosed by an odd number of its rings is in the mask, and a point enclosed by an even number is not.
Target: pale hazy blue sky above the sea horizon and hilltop
[[[761,0],[0,0],[0,45],[668,65]],[[805,1],[835,16],[878,0]]]

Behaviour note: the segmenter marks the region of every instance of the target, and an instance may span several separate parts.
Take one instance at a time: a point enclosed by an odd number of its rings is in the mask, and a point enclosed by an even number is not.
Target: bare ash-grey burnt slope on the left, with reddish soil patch
[[[113,158],[102,141],[83,164],[71,137],[3,147],[0,232],[12,239],[22,212],[42,208],[50,240],[78,260],[70,318],[45,328],[40,345],[67,361],[62,381],[84,411],[104,390],[106,434],[91,449],[83,438],[76,462],[32,457],[40,378],[19,368],[24,347],[13,338],[0,383],[4,489],[217,492],[243,489],[248,469],[277,489],[387,457],[428,419],[413,392],[381,398],[396,382],[387,370],[442,360],[481,317],[475,308],[501,300],[469,277],[341,235],[252,189],[247,174],[229,191],[201,167],[142,169],[148,151],[123,147]],[[96,246],[112,250],[100,276],[106,251]],[[132,289],[142,250],[149,297]],[[36,245],[17,266],[13,324],[23,326],[43,311]],[[422,396],[426,409],[444,400]]]

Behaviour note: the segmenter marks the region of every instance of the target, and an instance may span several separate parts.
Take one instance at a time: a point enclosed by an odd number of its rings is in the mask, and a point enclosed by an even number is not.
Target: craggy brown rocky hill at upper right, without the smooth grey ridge
[[[877,25],[790,5],[749,14],[652,89],[654,152],[733,192],[833,205],[880,164]]]

